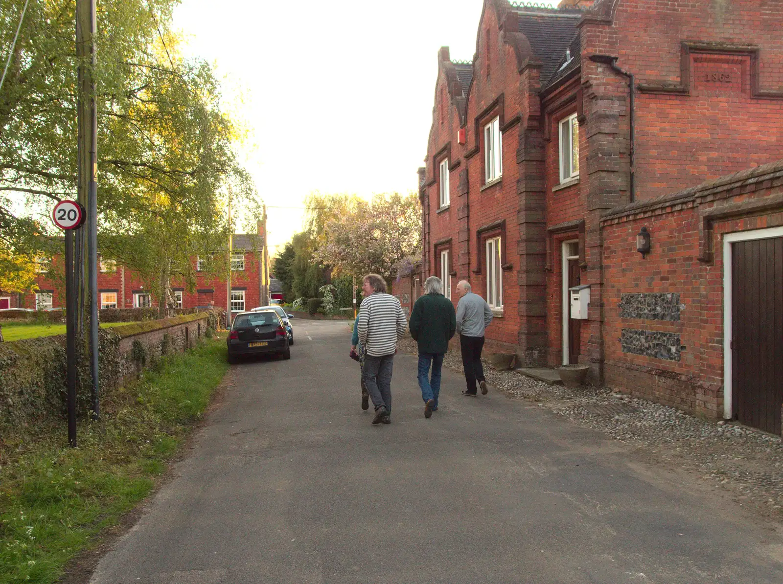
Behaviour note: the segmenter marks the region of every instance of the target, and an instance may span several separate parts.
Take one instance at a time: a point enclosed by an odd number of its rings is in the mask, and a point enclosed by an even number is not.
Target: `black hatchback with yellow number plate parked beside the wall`
[[[235,363],[240,355],[263,353],[283,355],[283,359],[291,358],[286,327],[273,310],[241,312],[236,315],[226,344],[229,348],[229,363]]]

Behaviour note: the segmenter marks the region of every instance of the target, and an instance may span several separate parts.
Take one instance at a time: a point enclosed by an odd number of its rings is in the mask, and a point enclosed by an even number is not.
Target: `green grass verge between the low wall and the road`
[[[65,420],[0,442],[0,582],[56,582],[150,492],[227,369],[225,342],[206,341],[104,399],[76,449]]]

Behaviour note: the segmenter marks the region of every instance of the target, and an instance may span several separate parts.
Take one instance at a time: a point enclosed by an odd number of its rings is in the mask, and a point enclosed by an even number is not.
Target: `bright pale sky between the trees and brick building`
[[[482,0],[182,0],[186,56],[214,63],[238,146],[268,207],[269,245],[320,193],[417,189],[438,48],[472,59]]]

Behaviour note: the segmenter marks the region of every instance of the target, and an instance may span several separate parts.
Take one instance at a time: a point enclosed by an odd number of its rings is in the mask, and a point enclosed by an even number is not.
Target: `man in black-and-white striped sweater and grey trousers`
[[[382,276],[364,276],[362,290],[364,300],[356,323],[365,350],[362,379],[375,406],[373,424],[391,424],[391,369],[397,341],[406,330],[405,312],[399,300],[386,293]]]

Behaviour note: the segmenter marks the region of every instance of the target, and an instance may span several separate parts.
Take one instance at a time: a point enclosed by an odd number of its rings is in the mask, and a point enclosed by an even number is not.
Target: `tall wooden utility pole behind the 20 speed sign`
[[[87,260],[89,277],[85,296],[90,307],[90,372],[92,373],[92,413],[100,416],[98,372],[98,110],[94,71],[96,67],[96,0],[76,0],[76,55],[79,61],[78,99],[78,191],[79,202],[87,211],[87,237],[82,237],[81,261]],[[86,240],[86,241],[85,241]],[[84,253],[86,248],[86,254]],[[86,256],[86,258],[85,258]],[[85,290],[84,270],[80,288]]]

